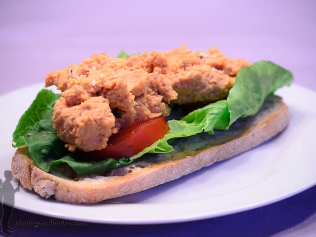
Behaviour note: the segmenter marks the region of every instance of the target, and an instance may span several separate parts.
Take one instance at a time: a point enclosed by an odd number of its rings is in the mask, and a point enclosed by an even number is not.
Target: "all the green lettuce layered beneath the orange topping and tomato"
[[[121,53],[122,57],[126,55]],[[137,155],[128,159],[108,158],[98,162],[82,161],[74,152],[65,148],[65,143],[59,139],[52,121],[53,105],[60,95],[43,89],[19,120],[13,134],[13,146],[27,145],[35,164],[47,172],[60,164],[68,164],[78,176],[104,173],[150,154],[172,152],[170,141],[174,138],[202,132],[213,134],[214,129],[228,129],[238,118],[256,114],[266,97],[278,88],[290,85],[292,81],[293,75],[288,70],[272,62],[254,63],[238,73],[227,100],[194,110],[180,120],[169,120],[168,134]]]

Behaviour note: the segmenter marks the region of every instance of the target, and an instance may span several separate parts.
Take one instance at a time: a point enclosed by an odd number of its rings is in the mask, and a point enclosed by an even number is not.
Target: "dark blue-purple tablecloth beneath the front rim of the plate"
[[[110,225],[40,216],[14,209],[13,236],[125,237],[305,237],[316,236],[316,186],[254,210],[224,217],[173,224]],[[47,224],[47,225],[44,225]],[[49,224],[49,225],[48,225]]]

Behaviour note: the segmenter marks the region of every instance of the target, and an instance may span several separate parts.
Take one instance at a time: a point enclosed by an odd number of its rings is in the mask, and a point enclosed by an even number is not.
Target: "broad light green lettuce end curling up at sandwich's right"
[[[290,71],[269,61],[260,61],[240,70],[227,98],[229,125],[240,117],[256,114],[267,96],[292,81]]]

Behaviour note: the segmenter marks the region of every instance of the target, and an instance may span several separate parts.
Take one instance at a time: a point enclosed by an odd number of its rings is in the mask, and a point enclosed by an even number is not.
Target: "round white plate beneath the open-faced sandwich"
[[[12,133],[42,87],[32,85],[0,96],[2,181],[15,152]],[[150,190],[92,205],[45,200],[20,188],[14,206],[69,220],[147,224],[218,217],[297,194],[316,184],[316,93],[292,85],[276,94],[290,108],[290,125],[277,137],[232,159]]]

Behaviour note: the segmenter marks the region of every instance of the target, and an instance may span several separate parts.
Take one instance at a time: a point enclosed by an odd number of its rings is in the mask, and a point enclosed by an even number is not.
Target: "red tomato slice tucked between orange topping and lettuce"
[[[131,157],[164,137],[168,131],[164,117],[140,121],[111,135],[105,149],[85,152],[85,156],[92,160]]]

